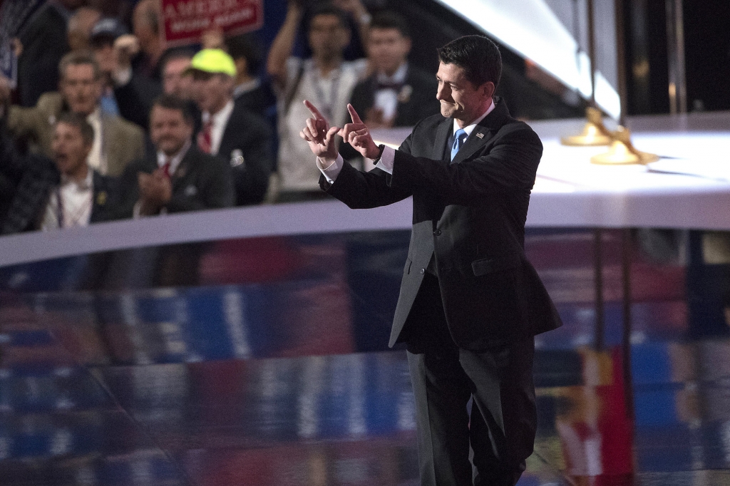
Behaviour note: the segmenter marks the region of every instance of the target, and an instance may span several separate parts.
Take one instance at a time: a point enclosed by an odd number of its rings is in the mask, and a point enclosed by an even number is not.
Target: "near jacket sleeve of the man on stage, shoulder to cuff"
[[[423,135],[421,135],[423,136]],[[391,187],[398,190],[426,190],[445,204],[469,205],[495,193],[531,190],[542,143],[523,123],[502,128],[484,153],[475,153],[461,163],[413,157],[396,151]]]

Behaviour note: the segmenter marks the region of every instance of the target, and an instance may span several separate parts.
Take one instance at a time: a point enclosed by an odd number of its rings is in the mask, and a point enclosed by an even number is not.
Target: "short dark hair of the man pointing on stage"
[[[439,61],[464,69],[466,80],[475,86],[493,82],[499,86],[502,77],[502,55],[499,47],[485,36],[464,36],[439,49]]]

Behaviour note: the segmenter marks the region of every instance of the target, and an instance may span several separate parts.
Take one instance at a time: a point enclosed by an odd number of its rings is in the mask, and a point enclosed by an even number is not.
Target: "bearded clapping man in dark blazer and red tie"
[[[231,169],[192,144],[193,117],[185,100],[159,96],[150,111],[156,153],[127,166],[120,181],[120,217],[229,207]]]

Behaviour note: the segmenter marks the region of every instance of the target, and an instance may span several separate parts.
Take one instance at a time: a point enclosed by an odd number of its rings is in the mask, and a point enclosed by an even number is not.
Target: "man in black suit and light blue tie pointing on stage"
[[[515,485],[536,430],[534,335],[561,325],[524,254],[542,144],[493,98],[502,70],[493,42],[461,37],[439,61],[442,116],[421,120],[399,150],[375,145],[352,107],[353,123],[339,129],[309,104],[301,137],[323,190],[349,207],[413,198],[390,344],[408,350],[421,484]],[[338,133],[376,168],[343,162]]]

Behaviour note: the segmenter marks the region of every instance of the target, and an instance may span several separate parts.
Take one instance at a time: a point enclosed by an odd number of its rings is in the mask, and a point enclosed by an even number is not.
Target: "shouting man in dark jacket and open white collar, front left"
[[[4,120],[0,123],[4,125]],[[93,128],[82,116],[65,113],[55,121],[53,160],[34,153],[20,155],[7,131],[1,132],[0,173],[14,187],[1,234],[113,219],[115,185],[86,163]]]

